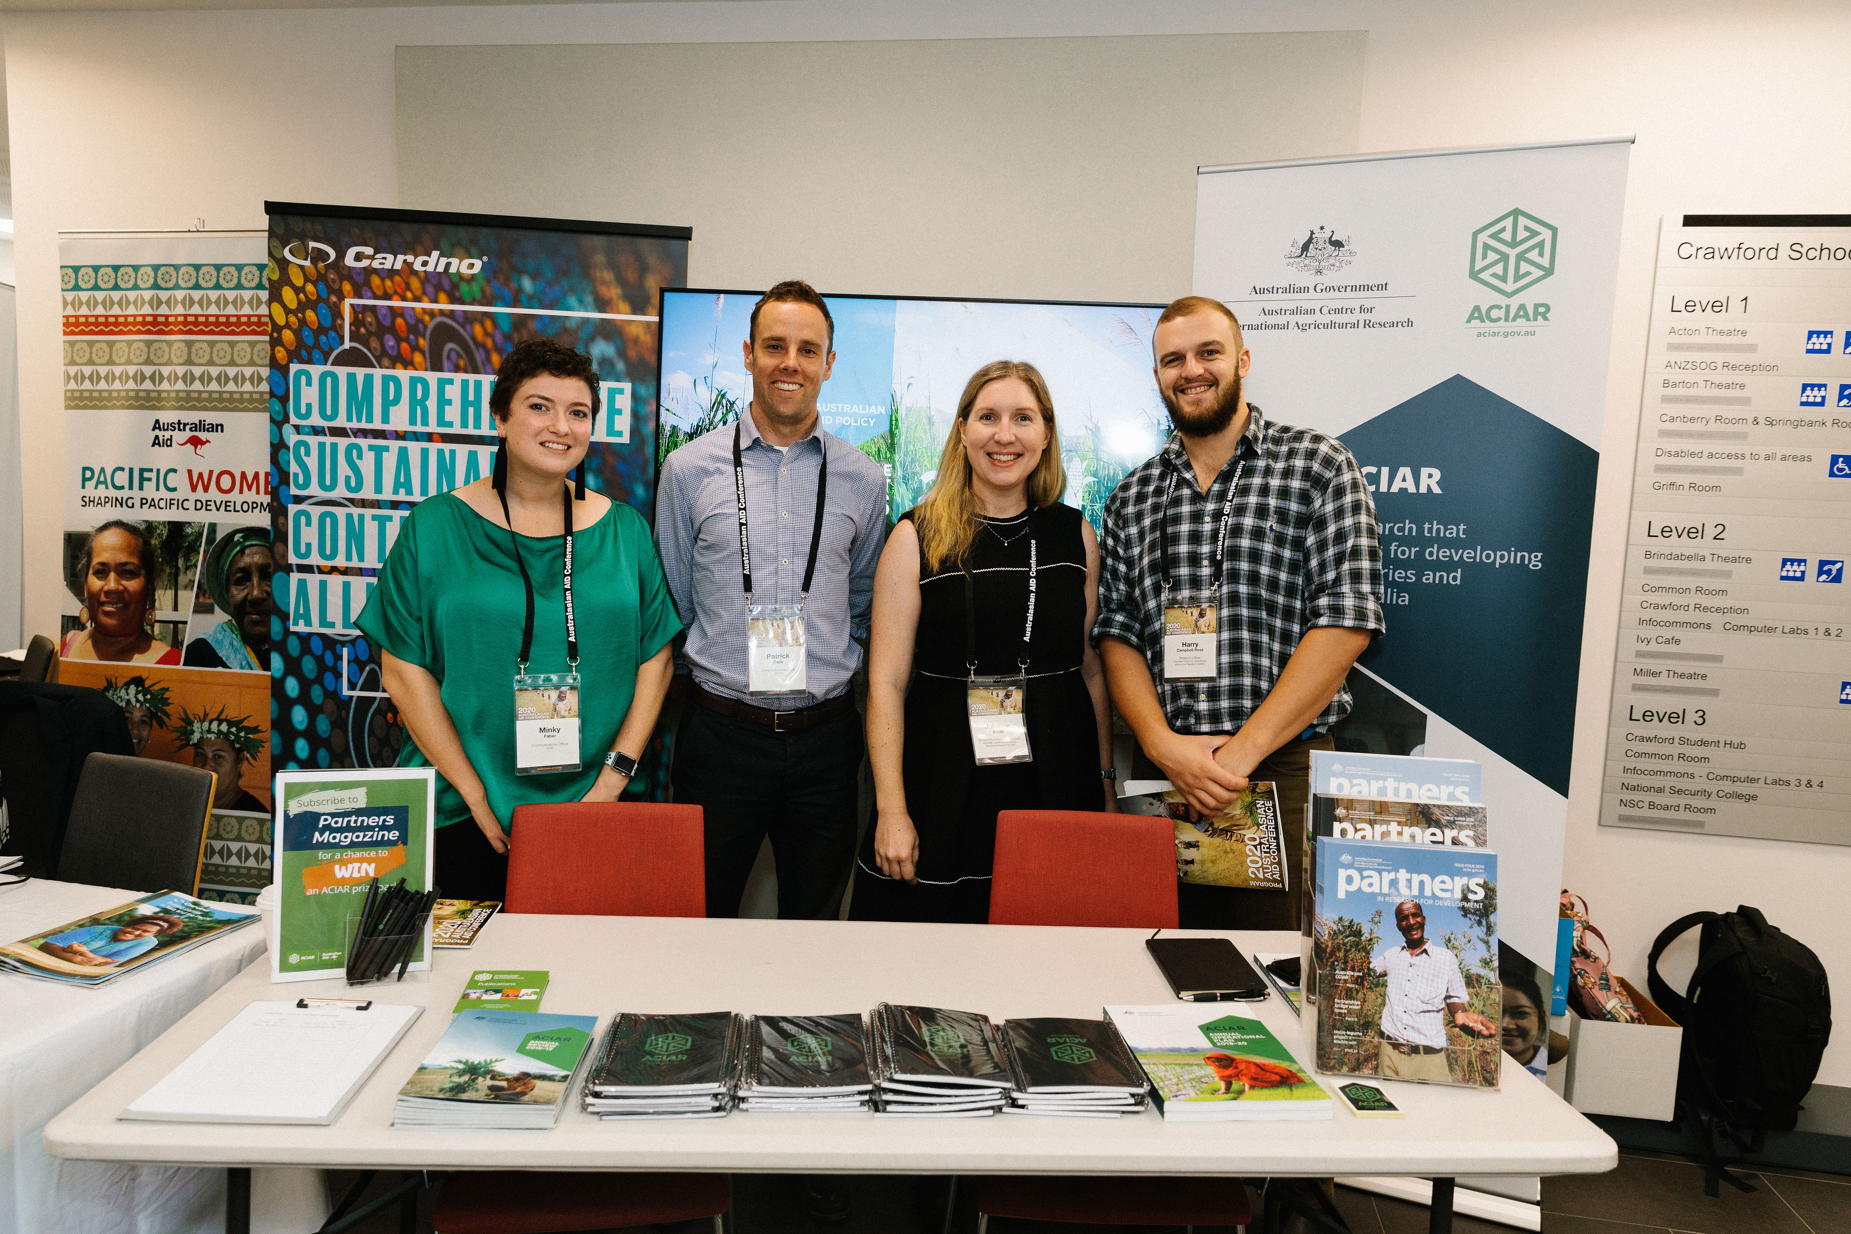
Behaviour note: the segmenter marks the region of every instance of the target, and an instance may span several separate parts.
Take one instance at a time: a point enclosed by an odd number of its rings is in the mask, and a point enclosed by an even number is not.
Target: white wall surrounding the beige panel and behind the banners
[[[56,229],[183,228],[198,215],[213,228],[255,228],[263,226],[267,196],[396,204],[396,44],[1268,30],[1368,30],[1362,150],[1638,133],[1581,664],[1568,882],[1588,895],[1616,942],[1620,971],[1634,979],[1644,975],[1646,949],[1662,923],[1692,908],[1753,903],[1825,958],[1840,992],[1851,988],[1840,892],[1851,882],[1851,847],[1603,831],[1594,821],[1658,218],[1683,209],[1844,209],[1851,200],[1851,161],[1842,157],[1840,137],[1851,131],[1851,96],[1840,89],[1842,52],[1851,44],[1844,4],[1560,0],[1486,9],[1468,0],[1038,0],[1007,7],[977,0],[763,0],[7,15],[28,629],[52,629],[57,605]],[[1312,74],[1299,89],[1311,96],[1322,83]],[[311,130],[317,111],[326,118]],[[1190,115],[1174,118],[1177,126],[1192,122]],[[1325,152],[1320,144],[1294,154]],[[1225,157],[1201,152],[1201,163]],[[726,168],[716,168],[714,191],[737,191]],[[703,278],[731,281],[726,270]],[[868,270],[866,281],[913,290],[881,270]],[[1838,1036],[1820,1079],[1851,1084],[1851,1034]]]

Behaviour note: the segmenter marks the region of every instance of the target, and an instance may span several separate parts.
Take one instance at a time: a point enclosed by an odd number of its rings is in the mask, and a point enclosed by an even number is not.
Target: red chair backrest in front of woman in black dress
[[[996,816],[990,925],[1174,931],[1175,823],[1138,814],[1003,810]]]

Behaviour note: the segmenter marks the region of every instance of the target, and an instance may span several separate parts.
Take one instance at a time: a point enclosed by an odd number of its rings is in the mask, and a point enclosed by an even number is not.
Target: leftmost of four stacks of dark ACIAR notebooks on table
[[[722,1117],[733,1108],[744,1055],[733,1012],[618,1012],[585,1082],[585,1112],[605,1119]]]

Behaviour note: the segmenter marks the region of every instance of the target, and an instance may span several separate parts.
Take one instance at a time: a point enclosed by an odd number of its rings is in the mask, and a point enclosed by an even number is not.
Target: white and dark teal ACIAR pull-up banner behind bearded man
[[[1248,398],[1375,490],[1388,635],[1338,749],[1485,764],[1503,940],[1544,990],[1629,144],[1198,178],[1196,292],[1240,318]]]

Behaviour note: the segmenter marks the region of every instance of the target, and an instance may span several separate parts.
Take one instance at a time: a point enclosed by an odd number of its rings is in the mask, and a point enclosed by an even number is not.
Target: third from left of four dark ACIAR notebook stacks
[[[1014,1080],[988,1016],[874,1008],[876,1117],[988,1117]]]

